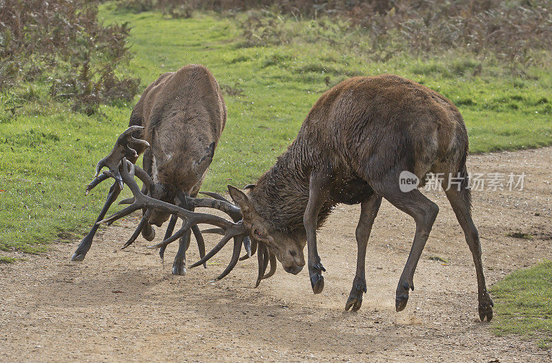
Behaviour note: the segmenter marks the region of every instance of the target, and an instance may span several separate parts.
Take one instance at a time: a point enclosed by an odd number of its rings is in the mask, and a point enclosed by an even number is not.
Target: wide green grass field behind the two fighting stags
[[[159,13],[117,12],[109,3],[101,6],[101,17],[134,27],[135,58],[128,72],[141,78],[142,87],[163,72],[202,63],[228,91],[228,123],[206,190],[253,182],[295,138],[308,110],[328,89],[326,82],[331,87],[359,74],[400,74],[450,98],[466,119],[471,152],[552,144],[550,68],[527,68],[514,76],[492,59],[453,53],[372,61],[374,50],[369,45],[363,50],[362,41],[351,49],[336,43],[362,40],[361,33],[330,37],[324,31],[335,29],[317,30],[320,39],[331,38],[330,45],[309,38],[308,21],[286,23],[300,31],[285,44],[247,47],[236,19],[211,14],[165,19]],[[90,117],[70,112],[70,105],[48,97],[44,80],[1,94],[0,249],[42,251],[66,232],[79,235],[90,227],[108,185],[86,198],[84,187],[97,160],[126,128],[132,106],[102,106],[101,114]]]

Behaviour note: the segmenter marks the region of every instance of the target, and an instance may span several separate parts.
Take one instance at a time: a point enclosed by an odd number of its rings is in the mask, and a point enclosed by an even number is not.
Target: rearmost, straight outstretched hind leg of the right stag
[[[449,187],[448,180],[442,181],[442,187],[446,193],[446,198],[449,198],[451,207],[456,214],[456,219],[460,223],[466,242],[468,242],[469,249],[473,256],[473,263],[475,264],[475,273],[477,276],[477,300],[479,302],[479,318],[484,321],[490,322],[493,318],[493,300],[489,292],[487,292],[485,284],[485,276],[483,274],[483,264],[481,261],[481,242],[479,238],[479,232],[471,219],[471,191],[467,189],[468,175],[464,167],[464,171],[460,173],[464,176],[464,183],[462,185],[451,185]]]

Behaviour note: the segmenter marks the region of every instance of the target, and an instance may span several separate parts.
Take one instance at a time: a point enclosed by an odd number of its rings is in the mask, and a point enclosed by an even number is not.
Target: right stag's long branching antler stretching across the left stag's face
[[[122,218],[124,216],[128,216],[134,211],[137,211],[139,209],[157,209],[160,211],[164,211],[168,214],[173,214],[176,216],[179,216],[179,218],[182,218],[184,220],[184,224],[182,227],[170,238],[167,238],[163,242],[158,243],[157,245],[150,246],[148,248],[159,248],[164,247],[168,245],[170,242],[177,240],[177,238],[183,236],[188,229],[190,229],[192,226],[197,225],[198,223],[206,223],[209,225],[215,225],[217,227],[220,227],[224,230],[224,236],[220,240],[220,242],[217,244],[217,246],[212,249],[207,255],[196,262],[191,267],[197,267],[207,260],[209,260],[211,257],[215,255],[226,243],[231,239],[234,238],[234,250],[232,259],[230,260],[230,264],[228,264],[228,267],[224,270],[223,273],[221,273],[220,276],[215,278],[216,280],[220,280],[221,278],[224,278],[224,276],[228,275],[228,273],[235,267],[237,260],[239,258],[239,251],[242,249],[242,244],[244,237],[246,236],[246,229],[242,222],[230,222],[229,220],[226,220],[224,218],[221,218],[219,216],[215,216],[213,214],[205,214],[205,213],[197,213],[193,211],[188,211],[184,208],[178,207],[176,205],[172,205],[170,203],[166,203],[162,200],[157,200],[155,198],[151,198],[149,196],[146,196],[143,194],[138,187],[136,181],[134,180],[135,176],[135,170],[137,170],[136,165],[133,163],[130,163],[130,161],[126,160],[126,158],[123,158],[121,160],[121,168],[120,168],[120,174],[121,174],[121,180],[124,181],[126,185],[128,185],[128,188],[130,191],[132,191],[132,194],[134,195],[134,202],[132,205],[122,209],[121,211],[118,211],[117,213],[113,214],[112,216],[100,220],[97,222],[98,225],[102,224],[110,224],[114,222],[115,220],[118,220],[119,218]],[[222,202],[222,201],[219,201]],[[203,206],[204,202],[199,203],[198,207]],[[207,206],[208,207],[208,206]],[[227,206],[228,207],[228,206]],[[235,206],[234,206],[235,207]]]

